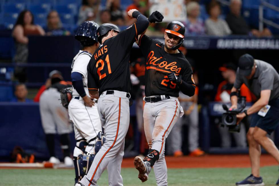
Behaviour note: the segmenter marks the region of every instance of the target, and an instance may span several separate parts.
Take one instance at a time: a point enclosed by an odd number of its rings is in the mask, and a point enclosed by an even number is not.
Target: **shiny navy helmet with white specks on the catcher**
[[[99,24],[94,21],[83,22],[75,34],[75,39],[81,42],[83,46],[91,46],[98,40],[97,29]]]

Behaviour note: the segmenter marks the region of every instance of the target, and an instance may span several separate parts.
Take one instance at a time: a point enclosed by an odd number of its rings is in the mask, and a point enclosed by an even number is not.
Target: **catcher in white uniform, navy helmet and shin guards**
[[[100,149],[102,127],[95,101],[89,97],[87,88],[87,65],[94,51],[98,48],[97,29],[99,25],[94,21],[85,21],[75,35],[82,46],[72,63],[71,78],[73,82],[73,98],[68,111],[70,120],[74,123],[75,183],[87,173],[95,154]]]

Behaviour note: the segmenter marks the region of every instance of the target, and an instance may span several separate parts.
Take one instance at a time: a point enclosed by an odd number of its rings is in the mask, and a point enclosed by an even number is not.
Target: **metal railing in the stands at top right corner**
[[[279,12],[279,7],[262,0],[261,5],[259,6],[259,30],[263,30],[264,23],[279,29],[279,24],[264,18],[264,7]]]

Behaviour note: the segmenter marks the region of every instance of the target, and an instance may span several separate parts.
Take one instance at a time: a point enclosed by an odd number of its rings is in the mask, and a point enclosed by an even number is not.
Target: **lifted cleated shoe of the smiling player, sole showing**
[[[144,162],[139,156],[136,156],[134,160],[135,168],[139,171],[138,178],[141,182],[145,182],[148,179],[148,175],[151,171],[151,165],[149,162]]]

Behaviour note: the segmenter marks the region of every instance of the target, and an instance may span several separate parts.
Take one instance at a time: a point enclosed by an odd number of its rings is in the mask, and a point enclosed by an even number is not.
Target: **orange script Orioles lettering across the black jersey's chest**
[[[160,68],[165,68],[166,70],[171,70],[173,72],[176,73],[176,75],[179,74],[181,68],[178,68],[176,66],[177,62],[171,62],[168,64],[167,61],[163,61],[161,63],[156,63],[158,60],[162,59],[163,57],[160,57],[160,58],[157,58],[154,56],[154,51],[150,51],[148,56],[147,56],[147,65],[150,64],[150,65],[154,65],[154,66],[158,66]],[[153,69],[153,68],[152,68]],[[159,70],[159,69],[158,69]]]

